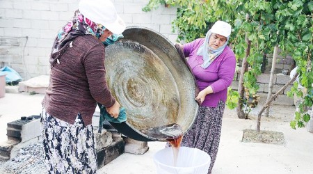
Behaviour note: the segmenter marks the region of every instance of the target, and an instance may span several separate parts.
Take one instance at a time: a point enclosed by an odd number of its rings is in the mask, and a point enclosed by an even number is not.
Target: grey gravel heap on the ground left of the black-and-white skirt
[[[42,143],[26,146],[17,156],[8,161],[0,161],[0,173],[47,173]]]

